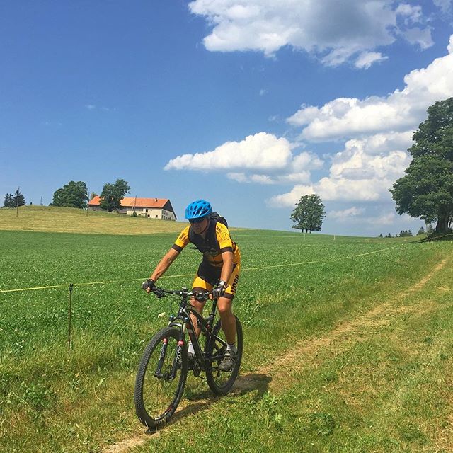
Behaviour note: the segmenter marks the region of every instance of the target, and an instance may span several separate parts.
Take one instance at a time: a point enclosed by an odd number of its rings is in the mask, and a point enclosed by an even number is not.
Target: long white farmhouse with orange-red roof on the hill
[[[88,202],[88,210],[101,211],[101,199],[99,195]],[[176,220],[171,202],[165,198],[137,198],[124,197],[121,200],[121,209],[118,214],[132,215],[134,212],[142,217],[160,220]]]

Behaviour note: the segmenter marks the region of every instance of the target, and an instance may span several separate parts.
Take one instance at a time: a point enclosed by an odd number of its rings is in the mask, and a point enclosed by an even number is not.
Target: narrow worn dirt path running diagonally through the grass
[[[400,302],[412,294],[420,292],[425,285],[436,275],[448,262],[448,258],[442,260],[430,273],[425,275],[411,288],[406,289],[404,292],[396,294],[395,297],[389,301],[375,306],[373,309],[367,311],[365,314],[357,316],[351,321],[343,321],[333,328],[327,336],[321,338],[309,338],[307,340],[297,343],[292,350],[285,352],[280,357],[269,365],[265,365],[256,372],[245,374],[237,379],[234,384],[232,393],[241,393],[243,391],[251,391],[259,389],[260,387],[268,387],[273,391],[282,391],[292,384],[292,372],[299,367],[306,367],[307,363],[314,363],[319,361],[318,353],[326,348],[335,350],[336,352],[344,350],[351,343],[363,338],[369,333],[370,330],[388,326],[391,319],[398,314],[407,313],[415,309],[420,309],[416,304],[414,305],[401,305]],[[429,307],[424,307],[429,309]],[[196,402],[183,401],[181,406],[173,419],[178,419],[187,415],[187,413],[200,411],[209,408],[212,403],[218,401],[219,398],[207,398],[206,400],[197,400]],[[173,420],[174,421],[174,420]],[[156,432],[153,438],[159,435]],[[142,445],[151,437],[146,433],[129,439],[122,440],[115,445],[111,445],[104,450],[104,453],[127,453],[134,447]]]

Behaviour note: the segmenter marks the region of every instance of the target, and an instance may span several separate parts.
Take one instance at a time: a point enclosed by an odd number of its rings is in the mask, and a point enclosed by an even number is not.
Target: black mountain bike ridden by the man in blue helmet
[[[189,292],[187,288],[177,291],[155,287],[157,297],[179,299],[177,314],[168,318],[168,326],[162,328],[149,341],[139,362],[135,379],[135,413],[150,430],[158,430],[168,423],[183,397],[188,376],[188,348],[186,333],[195,350],[192,371],[196,377],[206,375],[208,386],[216,395],[226,394],[234,384],[241,367],[243,335],[241,322],[236,318],[237,357],[233,369],[222,372],[219,364],[225,357],[226,338],[220,325],[215,324],[217,299],[212,299],[210,314],[203,317],[190,304],[193,297],[199,302],[212,298],[210,292]],[[195,335],[195,326],[190,317],[195,316],[200,337]]]

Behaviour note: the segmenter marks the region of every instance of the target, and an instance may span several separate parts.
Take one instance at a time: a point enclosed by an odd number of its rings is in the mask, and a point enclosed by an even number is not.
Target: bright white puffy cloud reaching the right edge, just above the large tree
[[[407,74],[402,91],[363,100],[337,98],[320,108],[302,105],[287,122],[303,127],[301,137],[309,141],[415,130],[429,105],[453,96],[453,38],[448,50],[428,67]]]

